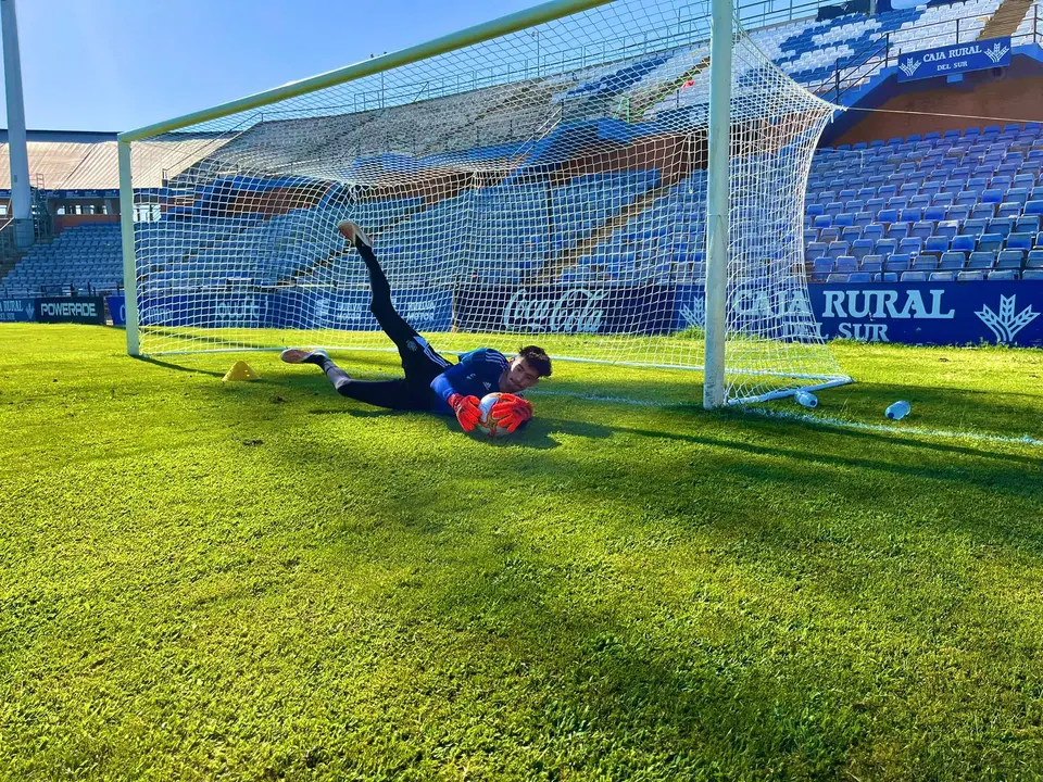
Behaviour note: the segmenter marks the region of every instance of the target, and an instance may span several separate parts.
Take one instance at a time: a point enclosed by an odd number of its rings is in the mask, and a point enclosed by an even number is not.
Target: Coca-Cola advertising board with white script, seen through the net
[[[533,333],[666,333],[674,310],[665,286],[465,286],[453,305],[460,330]]]

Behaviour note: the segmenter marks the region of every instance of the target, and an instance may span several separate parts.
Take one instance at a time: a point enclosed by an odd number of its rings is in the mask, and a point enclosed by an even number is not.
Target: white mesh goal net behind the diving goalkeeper
[[[124,135],[140,352],[393,350],[337,230],[351,219],[443,353],[535,342],[700,369],[709,37],[705,3],[616,0]],[[808,304],[802,236],[833,106],[738,23],[732,51],[726,390],[743,401],[846,378]]]

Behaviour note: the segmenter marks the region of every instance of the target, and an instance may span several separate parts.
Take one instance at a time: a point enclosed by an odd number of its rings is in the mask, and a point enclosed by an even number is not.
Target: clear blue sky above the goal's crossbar
[[[533,4],[17,0],[26,125],[129,130]]]

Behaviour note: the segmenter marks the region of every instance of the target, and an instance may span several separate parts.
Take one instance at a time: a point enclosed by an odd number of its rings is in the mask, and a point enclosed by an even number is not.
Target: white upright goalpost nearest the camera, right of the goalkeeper
[[[728,299],[728,161],[731,111],[731,0],[713,0],[709,34],[709,151],[706,161],[706,324],[703,407],[725,404]]]

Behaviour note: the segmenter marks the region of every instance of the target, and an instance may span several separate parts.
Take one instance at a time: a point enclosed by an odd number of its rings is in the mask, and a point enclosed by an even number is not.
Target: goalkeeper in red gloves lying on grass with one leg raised
[[[338,393],[376,407],[454,414],[468,432],[478,422],[479,401],[493,391],[510,394],[491,411],[493,419],[507,431],[513,432],[532,417],[532,405],[519,394],[536,386],[541,377],[550,377],[551,360],[542,349],[528,345],[508,360],[498,351],[479,348],[462,355],[458,364],[450,364],[394,311],[391,286],[365,232],[350,220],[342,222],[337,228],[366,263],[373,295],[369,312],[399,349],[405,377],[355,380],[334,364],[324,351],[290,348],[282,351],[282,361],[321,366]]]

